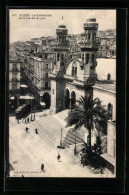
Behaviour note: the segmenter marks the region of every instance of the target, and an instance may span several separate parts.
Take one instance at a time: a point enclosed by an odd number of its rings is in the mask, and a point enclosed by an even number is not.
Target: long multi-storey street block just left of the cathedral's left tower
[[[50,79],[48,73],[54,67],[54,53],[45,52],[41,57],[28,56],[25,62],[24,80],[29,85],[38,104],[50,106]]]

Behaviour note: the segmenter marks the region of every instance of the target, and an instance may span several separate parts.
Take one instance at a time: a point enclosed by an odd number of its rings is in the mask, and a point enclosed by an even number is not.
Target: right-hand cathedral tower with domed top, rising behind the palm
[[[99,48],[99,42],[96,39],[97,30],[98,23],[96,18],[91,15],[84,23],[84,41],[81,44],[81,58],[86,86],[93,86],[96,80],[96,57]]]

